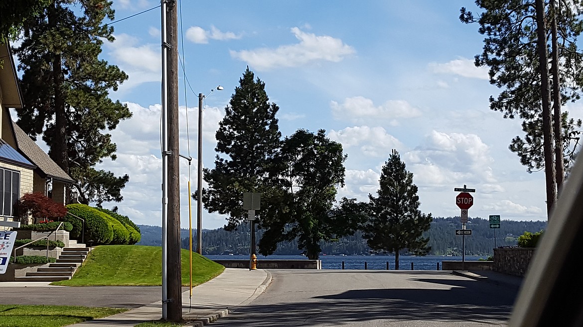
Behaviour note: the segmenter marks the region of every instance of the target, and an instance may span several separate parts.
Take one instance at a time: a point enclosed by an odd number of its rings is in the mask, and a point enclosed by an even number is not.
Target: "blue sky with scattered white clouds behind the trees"
[[[116,19],[157,5],[113,2]],[[215,131],[247,66],[279,105],[284,136],[325,129],[343,144],[346,186],[339,196],[366,200],[375,193],[381,166],[396,148],[415,174],[423,212],[459,215],[454,187],[467,184],[477,190],[471,217],[546,220],[543,173],[526,173],[508,150],[512,137],[522,135],[520,121],[490,111],[488,98],[498,90],[487,70],[473,65],[483,37],[476,25],[459,22],[462,6],[475,9],[472,0],[182,0],[180,52],[190,86],[184,92],[180,72],[181,151],[188,155],[189,147],[194,158],[190,171],[186,161],[181,167],[182,226],[188,226],[189,175],[196,185],[197,94],[224,87],[205,101],[203,165],[212,167]],[[118,159],[101,168],[130,175],[117,205],[147,225],[161,219],[160,16],[154,9],[114,24],[117,40],[102,54],[129,74],[111,97],[127,103],[134,117],[112,132]],[[575,117],[583,113],[577,104],[568,109]],[[203,228],[225,222],[203,213]]]

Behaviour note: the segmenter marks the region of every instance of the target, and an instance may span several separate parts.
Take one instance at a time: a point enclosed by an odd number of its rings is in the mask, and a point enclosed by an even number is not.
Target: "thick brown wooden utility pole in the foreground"
[[[178,15],[175,0],[167,0],[168,51],[168,321],[182,320],[180,264],[180,147],[178,131]]]

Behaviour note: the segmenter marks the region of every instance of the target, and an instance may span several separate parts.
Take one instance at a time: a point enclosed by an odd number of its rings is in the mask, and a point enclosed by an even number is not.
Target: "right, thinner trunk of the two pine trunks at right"
[[[563,162],[563,133],[561,133],[561,92],[559,90],[559,42],[557,41],[557,7],[556,0],[550,0],[550,13],[552,15],[552,67],[553,67],[553,125],[554,125],[554,166],[556,173],[557,193],[561,191],[565,177]]]

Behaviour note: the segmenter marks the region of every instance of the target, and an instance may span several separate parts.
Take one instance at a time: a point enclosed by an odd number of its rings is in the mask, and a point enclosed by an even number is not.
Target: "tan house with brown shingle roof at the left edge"
[[[75,180],[12,121],[9,108],[22,108],[16,67],[8,44],[0,44],[0,230],[18,226],[18,201],[26,193],[66,203]]]

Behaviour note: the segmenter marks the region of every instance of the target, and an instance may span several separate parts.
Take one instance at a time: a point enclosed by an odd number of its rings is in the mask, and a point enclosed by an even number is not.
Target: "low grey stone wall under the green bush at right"
[[[494,270],[508,275],[524,276],[535,248],[494,248]]]

